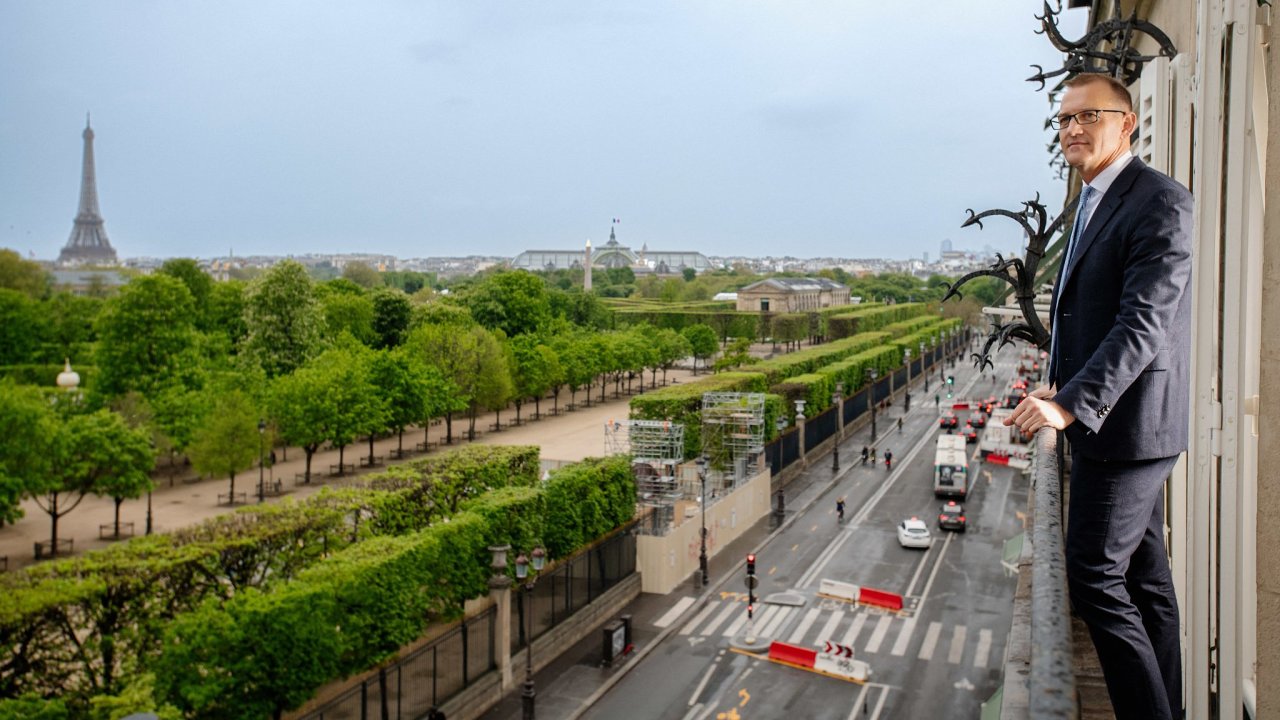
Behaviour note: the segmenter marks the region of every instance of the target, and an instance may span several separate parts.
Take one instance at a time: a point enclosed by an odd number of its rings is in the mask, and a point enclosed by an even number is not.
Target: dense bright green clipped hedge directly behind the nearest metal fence
[[[590,459],[545,487],[508,487],[420,532],[349,547],[269,593],[205,603],[175,621],[155,662],[157,691],[188,717],[279,716],[338,676],[370,667],[488,592],[490,544],[550,557],[630,520],[630,459]],[[539,510],[544,510],[539,512]]]

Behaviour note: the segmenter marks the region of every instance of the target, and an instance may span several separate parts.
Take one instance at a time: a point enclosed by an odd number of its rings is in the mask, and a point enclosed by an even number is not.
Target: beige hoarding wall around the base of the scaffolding
[[[765,468],[745,484],[707,507],[707,556],[737,539],[756,520],[769,512],[769,470]],[[682,519],[680,527],[662,537],[636,538],[636,570],[644,579],[644,592],[667,594],[690,573],[698,570],[701,555],[696,515]]]

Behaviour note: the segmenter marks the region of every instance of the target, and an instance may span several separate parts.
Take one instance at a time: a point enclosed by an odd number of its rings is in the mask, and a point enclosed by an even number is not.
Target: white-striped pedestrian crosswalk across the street
[[[681,606],[687,610],[691,603]],[[663,615],[660,621],[671,625],[677,616]],[[794,607],[767,605],[755,609],[755,634],[791,644],[818,646],[824,642],[854,648],[856,655],[887,653],[895,657],[911,656],[916,660],[938,660],[951,665],[989,667],[998,662],[1000,650],[988,628],[969,628],[964,624],[946,625],[941,621],[922,621],[920,618],[883,612],[877,609],[824,603]],[[713,600],[680,626],[681,635],[724,637],[736,635],[746,626],[746,605],[735,600]],[[916,630],[923,630],[918,633]],[[993,657],[993,652],[997,657]]]

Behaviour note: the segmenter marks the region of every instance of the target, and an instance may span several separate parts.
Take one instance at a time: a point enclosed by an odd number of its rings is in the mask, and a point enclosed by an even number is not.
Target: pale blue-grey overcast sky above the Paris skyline
[[[0,0],[0,246],[58,256],[91,111],[120,258],[1007,250],[960,223],[1060,208],[1041,6]]]

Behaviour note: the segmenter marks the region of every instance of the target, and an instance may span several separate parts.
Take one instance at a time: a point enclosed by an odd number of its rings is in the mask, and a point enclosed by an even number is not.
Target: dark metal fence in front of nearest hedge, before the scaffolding
[[[526,598],[530,634],[536,639],[636,571],[636,539],[630,529],[544,571],[532,591],[512,587],[511,652],[525,647],[520,612]],[[300,720],[422,717],[498,666],[497,623],[498,610],[489,607]]]

